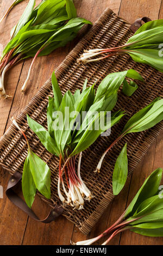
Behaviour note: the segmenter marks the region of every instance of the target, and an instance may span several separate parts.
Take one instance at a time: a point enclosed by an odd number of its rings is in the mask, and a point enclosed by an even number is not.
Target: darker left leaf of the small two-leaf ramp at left
[[[30,172],[28,155],[24,162],[24,167],[23,167],[22,192],[23,192],[23,197],[26,201],[26,204],[28,205],[29,208],[31,208],[34,202],[35,194],[36,194],[36,186],[35,186],[32,173]]]

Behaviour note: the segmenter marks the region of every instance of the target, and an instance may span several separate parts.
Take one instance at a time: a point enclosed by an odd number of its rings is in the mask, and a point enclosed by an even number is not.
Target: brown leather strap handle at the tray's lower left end
[[[54,221],[58,216],[60,216],[63,212],[63,208],[61,206],[55,205],[55,207],[49,212],[48,216],[44,220],[40,220],[35,213],[30,209],[27,204],[17,196],[14,192],[13,188],[20,182],[22,179],[22,174],[19,172],[15,172],[14,175],[11,176],[8,182],[6,194],[9,200],[14,203],[18,208],[26,212],[30,217],[32,217],[35,221],[49,223]]]

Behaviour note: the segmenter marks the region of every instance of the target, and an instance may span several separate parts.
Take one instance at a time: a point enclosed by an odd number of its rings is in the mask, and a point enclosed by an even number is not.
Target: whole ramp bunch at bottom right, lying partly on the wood
[[[118,218],[101,235],[89,240],[72,242],[73,245],[91,245],[106,235],[110,235],[102,244],[107,245],[118,233],[125,230],[145,236],[163,236],[163,193],[160,188],[162,169],[158,168],[145,180],[133,200]]]

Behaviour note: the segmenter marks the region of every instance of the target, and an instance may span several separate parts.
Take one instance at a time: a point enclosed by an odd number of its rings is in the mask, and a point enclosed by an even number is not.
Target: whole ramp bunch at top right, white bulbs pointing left
[[[143,24],[124,45],[112,48],[85,50],[78,62],[90,63],[103,60],[118,54],[129,54],[139,63],[148,64],[163,72],[162,57],[163,19]],[[103,54],[102,57],[98,57]]]

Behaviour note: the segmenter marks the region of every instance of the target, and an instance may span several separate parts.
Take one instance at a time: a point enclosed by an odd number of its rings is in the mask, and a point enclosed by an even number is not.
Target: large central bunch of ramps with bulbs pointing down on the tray
[[[143,81],[135,70],[126,70],[106,76],[99,84],[96,93],[95,84],[87,87],[87,80],[85,80],[82,92],[77,89],[72,94],[68,90],[62,95],[53,73],[54,97],[49,97],[47,107],[48,130],[27,115],[30,129],[39,137],[49,153],[59,158],[58,197],[65,205],[82,209],[84,200],[90,200],[92,197],[93,191],[87,188],[80,174],[82,151],[89,148],[103,132],[117,124],[123,117],[124,113],[121,110],[111,113],[110,119],[107,118],[107,113],[116,105],[118,89],[125,77]],[[59,126],[60,113],[63,119]],[[104,120],[102,126],[101,120]],[[30,150],[28,151],[30,154]],[[31,160],[31,157],[28,159]],[[42,164],[42,166],[41,168],[45,168],[45,165]],[[33,175],[33,172],[30,172]],[[29,187],[22,188],[25,200],[30,191],[30,184],[25,182],[26,179],[28,179],[27,172],[24,174],[24,184]],[[42,187],[46,186],[46,182],[45,184],[42,182]],[[39,181],[37,186],[38,183]],[[31,199],[28,205],[31,206],[32,203]]]

